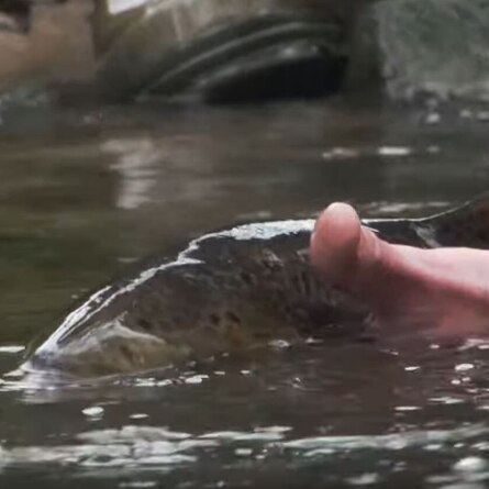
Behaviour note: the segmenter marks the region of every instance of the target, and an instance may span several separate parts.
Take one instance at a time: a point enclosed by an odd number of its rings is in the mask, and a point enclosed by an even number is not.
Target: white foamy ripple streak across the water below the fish
[[[436,446],[445,452],[457,444],[467,446],[476,438],[487,436],[486,425],[464,426],[447,431],[412,431],[388,435],[365,436],[312,436],[286,438],[288,426],[262,426],[253,431],[221,431],[200,435],[171,431],[165,427],[126,425],[121,429],[92,430],[75,436],[71,443],[49,446],[0,447],[0,469],[23,466],[73,466],[81,473],[116,469],[118,474],[134,476],[140,470],[156,469],[168,473],[179,467],[205,464],[214,460],[226,449],[229,467],[238,467],[246,458],[249,463],[268,460],[304,463],[312,457],[360,456],[365,449],[382,454],[399,453],[413,447]],[[475,445],[474,445],[475,446]],[[382,455],[385,456],[385,455]],[[210,462],[209,462],[210,463]],[[486,477],[487,463],[479,457],[466,457],[455,462],[452,469],[460,474],[477,474],[478,480]],[[378,476],[373,473],[352,474],[348,481],[354,486],[374,484]],[[464,476],[465,477],[465,476]],[[470,476],[471,477],[471,476]],[[476,476],[474,476],[476,477]],[[468,476],[464,480],[467,480]],[[474,480],[471,478],[470,480]]]

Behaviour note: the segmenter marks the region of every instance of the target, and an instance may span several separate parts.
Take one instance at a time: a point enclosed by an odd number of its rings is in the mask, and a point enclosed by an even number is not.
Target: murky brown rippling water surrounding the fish
[[[422,215],[487,190],[481,105],[8,108],[0,373],[73,298],[240,222]],[[489,342],[270,346],[184,371],[0,384],[0,486],[427,487],[489,480]]]

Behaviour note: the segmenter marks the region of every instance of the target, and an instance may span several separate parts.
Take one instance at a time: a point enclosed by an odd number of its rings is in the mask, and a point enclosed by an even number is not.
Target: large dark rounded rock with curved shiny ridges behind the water
[[[247,101],[334,91],[360,3],[108,1],[96,15],[102,97]]]

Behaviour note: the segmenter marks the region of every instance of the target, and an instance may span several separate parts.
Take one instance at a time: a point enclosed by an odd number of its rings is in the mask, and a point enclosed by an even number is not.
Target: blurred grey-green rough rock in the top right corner
[[[487,0],[380,0],[354,35],[349,86],[390,98],[489,100]]]

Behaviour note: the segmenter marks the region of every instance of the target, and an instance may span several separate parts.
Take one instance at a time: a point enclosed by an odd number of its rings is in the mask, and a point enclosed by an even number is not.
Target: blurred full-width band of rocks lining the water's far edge
[[[487,0],[4,0],[0,91],[489,99]]]

